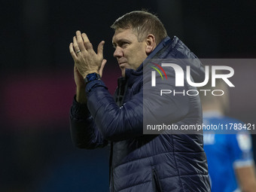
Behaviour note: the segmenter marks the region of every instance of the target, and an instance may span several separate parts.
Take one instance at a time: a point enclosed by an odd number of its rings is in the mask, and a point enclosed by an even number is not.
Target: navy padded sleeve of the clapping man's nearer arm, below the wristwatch
[[[181,120],[187,114],[188,99],[186,97],[170,99],[169,96],[163,96],[162,101],[156,102],[155,95],[158,93],[156,91],[152,93],[154,89],[149,85],[151,81],[142,82],[142,84],[143,87],[149,88],[145,90],[141,88],[121,107],[114,102],[103,81],[92,81],[87,84],[87,106],[104,139],[118,142],[142,136],[143,116],[156,119],[163,116],[160,114],[163,103],[163,107],[168,110],[164,117],[168,117],[172,122]],[[143,98],[144,94],[148,97]],[[181,110],[183,107],[184,110]]]

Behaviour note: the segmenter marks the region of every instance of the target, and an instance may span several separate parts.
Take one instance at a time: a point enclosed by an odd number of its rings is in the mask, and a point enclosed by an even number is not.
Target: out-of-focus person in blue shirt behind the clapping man
[[[203,90],[211,90],[210,83]],[[230,130],[229,123],[245,123],[225,116],[229,108],[229,92],[222,79],[216,79],[215,90],[223,90],[223,96],[200,92],[203,108],[203,124],[223,125]],[[232,130],[232,129],[231,129]],[[246,130],[204,130],[206,151],[212,192],[255,192],[256,177],[251,148],[251,136]]]

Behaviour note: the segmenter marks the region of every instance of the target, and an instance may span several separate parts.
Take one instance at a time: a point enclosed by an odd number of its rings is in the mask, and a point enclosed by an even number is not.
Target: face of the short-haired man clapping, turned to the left
[[[146,41],[138,42],[132,29],[117,29],[112,39],[114,57],[117,58],[122,75],[125,69],[137,69],[146,59]]]

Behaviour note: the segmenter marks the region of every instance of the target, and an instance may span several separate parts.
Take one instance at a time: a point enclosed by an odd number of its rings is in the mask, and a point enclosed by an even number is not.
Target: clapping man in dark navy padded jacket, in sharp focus
[[[194,59],[196,63],[190,66],[196,70],[193,78],[197,81],[204,75],[202,64],[177,37],[167,36],[163,23],[154,14],[133,11],[111,27],[114,57],[122,72],[114,99],[100,79],[106,62],[102,53],[104,41],[96,53],[87,35],[78,31],[69,46],[77,85],[70,114],[73,142],[78,148],[87,149],[111,144],[111,191],[209,191],[203,134],[143,135],[143,103],[148,102],[146,112],[150,117],[161,106],[151,90],[143,93],[142,85],[150,84],[151,88],[151,81],[143,82],[145,59]],[[173,70],[166,73],[173,84]],[[145,101],[143,94],[154,100]],[[163,99],[169,122],[201,122],[199,96]]]

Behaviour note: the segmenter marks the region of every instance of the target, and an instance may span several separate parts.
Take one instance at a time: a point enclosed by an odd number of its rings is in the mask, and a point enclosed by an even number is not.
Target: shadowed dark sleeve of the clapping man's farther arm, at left
[[[76,102],[75,98],[70,110],[70,132],[72,142],[78,148],[93,149],[108,145],[108,141],[102,139],[87,105]]]

